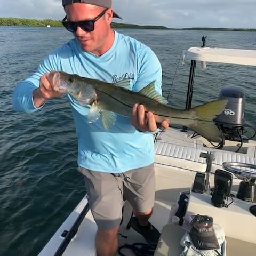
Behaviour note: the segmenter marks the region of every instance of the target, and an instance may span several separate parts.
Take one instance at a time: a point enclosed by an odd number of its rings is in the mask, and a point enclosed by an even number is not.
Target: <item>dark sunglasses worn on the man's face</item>
[[[99,20],[104,14],[105,12],[108,10],[105,9],[104,11],[102,11],[96,18],[94,18],[93,20],[81,20],[81,21],[65,21],[67,19],[67,15],[64,17],[64,19],[62,20],[62,24],[63,26],[70,32],[75,33],[77,30],[77,27],[81,27],[84,31],[86,32],[91,32],[94,30],[94,22],[96,22],[97,20]]]

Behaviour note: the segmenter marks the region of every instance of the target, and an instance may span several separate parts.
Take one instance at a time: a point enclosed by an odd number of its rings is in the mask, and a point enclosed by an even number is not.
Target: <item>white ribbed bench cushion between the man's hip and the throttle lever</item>
[[[167,142],[155,142],[155,163],[157,164],[205,172],[207,163],[206,159],[200,156],[201,153],[207,153],[207,151]]]

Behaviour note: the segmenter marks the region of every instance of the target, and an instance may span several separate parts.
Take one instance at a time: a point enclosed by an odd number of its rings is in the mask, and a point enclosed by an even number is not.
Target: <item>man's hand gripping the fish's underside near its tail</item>
[[[162,123],[156,123],[153,113],[148,112],[145,115],[144,106],[136,103],[132,108],[132,125],[141,132],[154,132],[157,127],[166,130],[169,122],[164,119]]]

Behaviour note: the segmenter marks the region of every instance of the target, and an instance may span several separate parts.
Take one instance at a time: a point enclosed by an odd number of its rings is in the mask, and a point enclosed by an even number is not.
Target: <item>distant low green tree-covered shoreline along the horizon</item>
[[[63,27],[60,20],[36,20],[25,18],[1,18],[0,26],[28,26],[28,27]],[[140,26],[135,24],[111,23],[112,28],[135,28],[135,29],[164,29],[164,30],[207,30],[207,31],[249,31],[256,32],[256,28],[167,28],[165,26]]]

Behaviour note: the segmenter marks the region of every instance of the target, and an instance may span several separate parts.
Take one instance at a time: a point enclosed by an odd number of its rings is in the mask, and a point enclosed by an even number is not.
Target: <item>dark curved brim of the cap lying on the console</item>
[[[205,250],[220,249],[220,245],[215,233],[212,233],[211,235],[207,235],[207,236],[201,236],[197,233],[197,231],[194,232],[193,230],[191,230],[189,235],[191,237],[191,240],[194,246],[198,250],[205,251]]]

